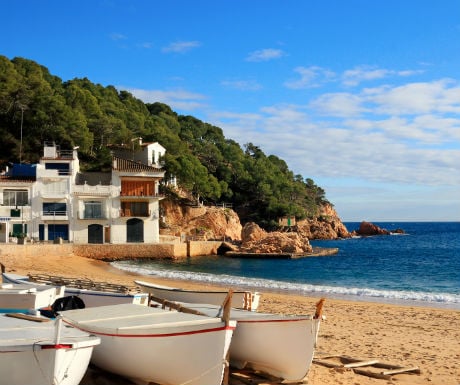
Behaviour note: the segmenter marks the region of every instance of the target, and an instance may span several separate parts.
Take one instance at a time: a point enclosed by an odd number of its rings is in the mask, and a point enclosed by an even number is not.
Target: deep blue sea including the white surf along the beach
[[[338,254],[299,259],[222,256],[120,261],[149,276],[351,300],[460,309],[460,222],[378,223],[405,234],[311,241]],[[349,231],[359,223],[345,223]]]

